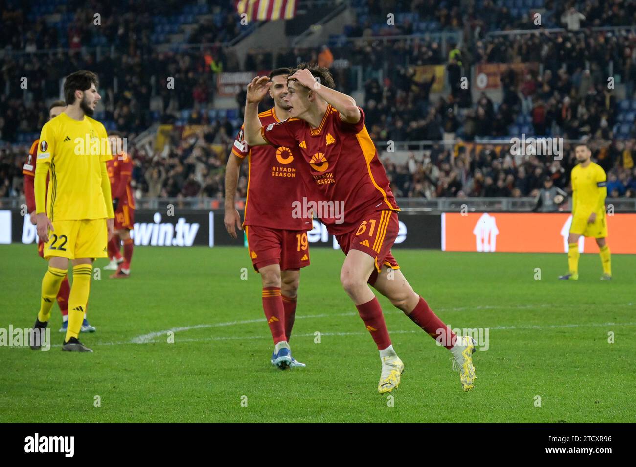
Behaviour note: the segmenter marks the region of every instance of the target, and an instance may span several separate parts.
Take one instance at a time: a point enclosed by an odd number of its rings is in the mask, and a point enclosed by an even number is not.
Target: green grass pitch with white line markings
[[[614,255],[614,279],[602,282],[598,255],[583,254],[579,281],[562,282],[565,254],[394,253],[446,323],[488,328],[473,391],[462,391],[450,352],[380,296],[405,370],[392,400],[377,393],[378,352],[340,287],[340,251],[311,251],[291,339],[307,368],[283,372],[270,365],[260,277],[245,249],[137,247],[130,279],[102,270],[93,280],[88,317],[97,333],[80,338],[95,353],[60,351],[57,305],[50,351],[0,347],[0,420],[636,421],[636,256]],[[32,245],[2,245],[0,258],[0,328],[30,327],[45,262]]]

